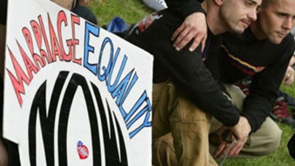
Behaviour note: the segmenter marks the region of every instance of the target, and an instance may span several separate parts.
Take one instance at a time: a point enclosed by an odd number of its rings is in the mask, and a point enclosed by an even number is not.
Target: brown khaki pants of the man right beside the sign
[[[209,153],[210,123],[211,115],[185,99],[172,83],[154,84],[153,164],[217,165]],[[161,140],[166,139],[169,142],[163,144]]]

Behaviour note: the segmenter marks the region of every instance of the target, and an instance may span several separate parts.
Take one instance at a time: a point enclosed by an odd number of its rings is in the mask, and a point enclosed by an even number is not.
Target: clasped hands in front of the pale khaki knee
[[[219,130],[216,131],[217,135],[220,135],[227,129],[231,130],[230,137],[233,140],[234,138],[237,140],[236,144],[231,148],[228,157],[231,157],[233,155],[238,155],[241,151],[241,149],[244,147],[247,138],[249,136],[249,133],[251,131],[251,126],[248,122],[248,120],[241,116],[238,124],[236,124],[234,127],[224,127],[222,126]],[[214,157],[216,158],[223,158],[228,151],[230,143],[226,141],[222,141],[217,149],[214,152]]]

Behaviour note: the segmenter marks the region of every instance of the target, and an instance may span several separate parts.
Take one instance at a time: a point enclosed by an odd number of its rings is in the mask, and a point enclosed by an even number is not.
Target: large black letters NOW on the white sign
[[[58,101],[60,100],[61,90],[64,86],[65,80],[69,72],[61,71],[54,85],[54,89],[50,99],[50,105],[48,110],[48,116],[46,115],[46,80],[39,87],[32,103],[30,119],[29,119],[29,155],[31,166],[36,166],[36,120],[37,111],[39,109],[39,118],[41,123],[42,138],[45,149],[45,158],[47,166],[54,166],[54,123],[56,117],[56,108]],[[88,117],[90,121],[91,136],[92,136],[92,149],[93,149],[93,165],[101,165],[101,153],[105,155],[106,166],[127,166],[127,155],[126,146],[124,143],[122,130],[119,123],[115,117],[115,122],[113,122],[111,110],[107,102],[107,111],[109,115],[110,122],[110,137],[107,125],[107,117],[105,114],[105,109],[102,104],[101,95],[98,88],[91,83],[92,88],[95,93],[96,102],[99,109],[99,114],[101,115],[101,126],[103,130],[103,143],[104,152],[100,147],[100,138],[98,132],[98,121],[97,114],[94,107],[94,102],[91,96],[90,89],[87,85],[85,78],[79,74],[73,74],[70,78],[69,84],[66,88],[65,94],[61,103],[61,111],[58,122],[58,163],[60,166],[67,166],[67,128],[68,120],[70,114],[70,108],[75,96],[76,90],[81,86],[84,99],[86,102]],[[83,97],[80,97],[83,99]],[[116,123],[116,128],[119,136],[120,144],[120,156],[117,149],[117,142],[114,130],[114,123]],[[78,157],[78,154],[77,154]]]

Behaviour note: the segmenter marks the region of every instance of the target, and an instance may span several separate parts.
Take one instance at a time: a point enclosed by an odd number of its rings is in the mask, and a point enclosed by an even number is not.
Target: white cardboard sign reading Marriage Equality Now
[[[151,165],[150,54],[49,0],[8,1],[5,54],[22,165]]]

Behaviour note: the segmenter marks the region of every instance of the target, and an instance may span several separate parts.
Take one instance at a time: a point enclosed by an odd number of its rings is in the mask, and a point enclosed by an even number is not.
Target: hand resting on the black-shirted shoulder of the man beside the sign
[[[207,23],[203,13],[197,12],[189,15],[171,37],[172,41],[176,39],[173,46],[177,51],[181,50],[193,38],[194,42],[191,44],[189,51],[194,51],[202,43],[203,52],[207,39]]]

